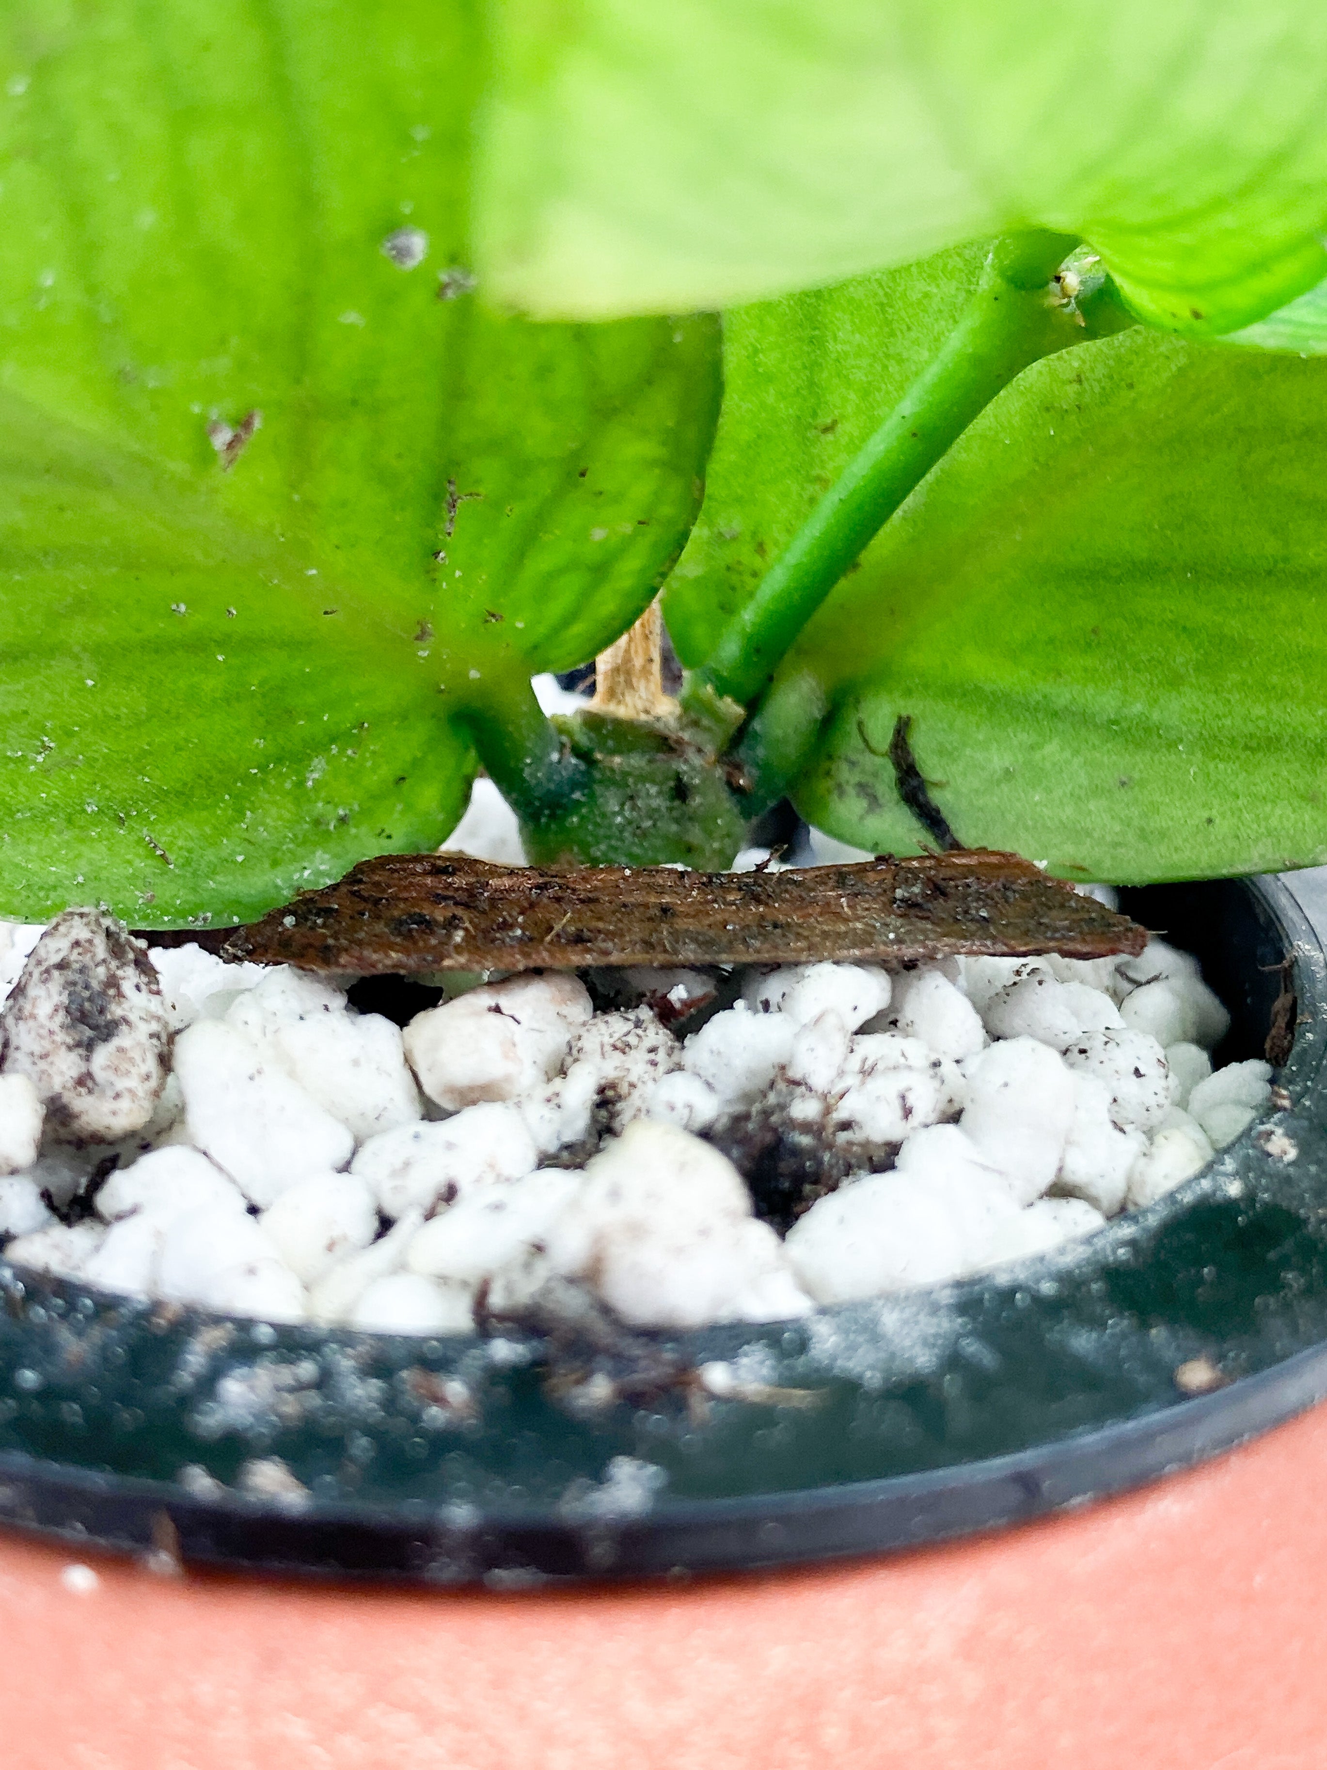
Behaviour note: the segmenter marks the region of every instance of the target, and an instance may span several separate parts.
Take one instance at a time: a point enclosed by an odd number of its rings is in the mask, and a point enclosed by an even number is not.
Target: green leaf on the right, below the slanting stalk
[[[1147,881],[1327,860],[1327,363],[1132,331],[1039,363],[789,655],[796,802],[917,851],[895,719],[970,846]],[[752,462],[752,476],[757,464]]]

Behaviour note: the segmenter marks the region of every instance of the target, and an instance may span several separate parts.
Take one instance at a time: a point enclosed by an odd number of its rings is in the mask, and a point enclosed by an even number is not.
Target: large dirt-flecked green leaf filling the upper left
[[[467,292],[483,67],[465,0],[5,9],[0,913],[234,920],[435,846],[465,699],[676,556],[715,324]]]

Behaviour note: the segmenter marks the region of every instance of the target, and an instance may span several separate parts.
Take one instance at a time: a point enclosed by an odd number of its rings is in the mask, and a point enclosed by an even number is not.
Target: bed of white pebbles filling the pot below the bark
[[[42,947],[0,926],[50,993]],[[1226,1011],[1159,940],[1122,961],[678,972],[672,995],[623,974],[598,1012],[575,975],[527,974],[403,1030],[347,979],[147,958],[173,1053],[156,1092],[133,1073],[140,1129],[71,1140],[64,1058],[48,1074],[35,1032],[0,1064],[5,1257],[269,1320],[453,1335],[481,1297],[568,1283],[642,1328],[787,1320],[1092,1234],[1270,1099],[1263,1062],[1212,1071]],[[816,1184],[779,1193],[784,1158]],[[60,1221],[94,1174],[94,1214]]]

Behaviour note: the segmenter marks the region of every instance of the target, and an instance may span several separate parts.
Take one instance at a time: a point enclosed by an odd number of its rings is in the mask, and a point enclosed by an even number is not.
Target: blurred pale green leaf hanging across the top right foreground
[[[1157,326],[1323,278],[1320,0],[504,0],[481,166],[497,292],[731,306],[1040,225]]]

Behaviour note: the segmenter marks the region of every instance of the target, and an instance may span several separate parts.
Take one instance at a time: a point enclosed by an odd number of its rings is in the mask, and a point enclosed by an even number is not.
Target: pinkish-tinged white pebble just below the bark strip
[[[563,1067],[591,1012],[577,977],[511,977],[416,1014],[405,1057],[425,1094],[448,1112],[511,1101]]]

